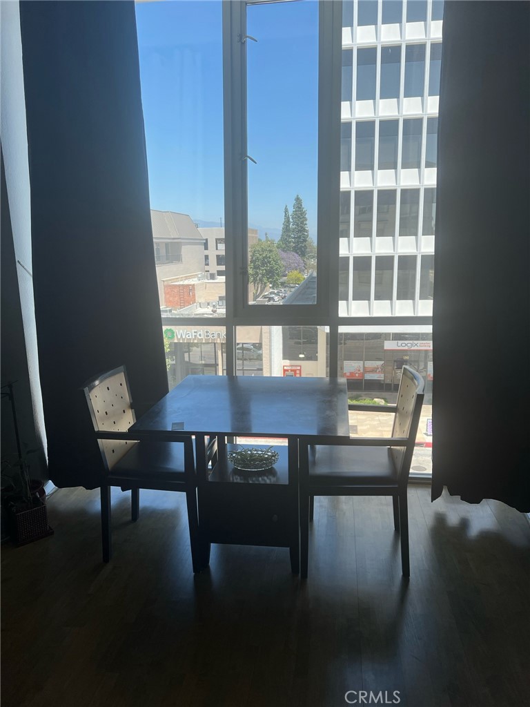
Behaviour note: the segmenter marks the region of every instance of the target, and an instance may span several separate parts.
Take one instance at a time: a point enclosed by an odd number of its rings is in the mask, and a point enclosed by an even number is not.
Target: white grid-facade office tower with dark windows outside
[[[344,0],[341,316],[430,316],[443,3]]]

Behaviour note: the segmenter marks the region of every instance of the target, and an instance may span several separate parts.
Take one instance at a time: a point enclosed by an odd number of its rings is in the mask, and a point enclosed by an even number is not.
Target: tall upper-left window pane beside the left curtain
[[[134,11],[149,185],[161,209],[151,211],[160,306],[173,317],[219,317],[209,303],[225,284],[207,281],[208,239],[196,222],[219,223],[224,209],[223,112],[205,110],[210,101],[223,105],[222,2],[200,12],[179,2]]]

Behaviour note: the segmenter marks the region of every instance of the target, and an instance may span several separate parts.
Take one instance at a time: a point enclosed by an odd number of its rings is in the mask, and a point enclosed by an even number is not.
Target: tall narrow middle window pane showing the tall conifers
[[[238,217],[251,226],[254,223],[261,225],[258,234],[261,240],[247,238],[246,247],[237,252],[237,257],[241,252],[245,254],[246,262],[237,263],[235,271],[247,269],[249,279],[255,280],[251,284],[257,285],[247,288],[242,278],[237,278],[236,302],[242,313],[247,305],[255,303],[254,296],[261,290],[264,262],[269,262],[272,271],[281,270],[279,275],[271,275],[272,283],[269,283],[276,288],[280,284],[278,278],[283,276],[283,268],[278,265],[280,256],[273,243],[267,245],[265,232],[269,232],[270,223],[281,233],[285,205],[288,206],[293,232],[292,237],[285,238],[287,252],[296,252],[304,260],[309,252],[313,266],[316,265],[320,8],[317,2],[223,4],[235,6],[230,13],[244,22],[246,14],[244,34],[259,40],[249,40],[244,46],[239,42],[243,52],[237,59],[237,62],[240,59],[243,62],[240,70],[246,78],[246,110],[242,99],[242,110],[235,119],[237,124],[243,124],[241,137],[245,155],[255,160],[255,163],[250,159],[246,161],[245,176],[241,175],[247,182],[247,214],[240,207]],[[285,28],[288,28],[287,32]],[[236,43],[239,33],[232,35]],[[226,60],[224,63],[226,66]],[[231,142],[230,149],[234,149],[234,141]],[[239,163],[241,157],[240,151]],[[347,171],[350,169],[346,168]],[[243,198],[244,189],[242,187],[240,191]],[[247,223],[242,227],[245,231]],[[303,269],[305,271],[305,267]],[[316,286],[317,270],[311,265],[307,269],[312,270],[311,281]],[[308,292],[309,284],[300,288],[300,296],[302,292]],[[288,303],[314,304],[316,295],[315,288],[312,288],[310,301],[290,298]],[[257,299],[261,309],[269,313],[273,309],[278,312],[283,309],[280,302],[276,302],[275,308],[265,308],[264,300]],[[252,307],[256,308],[255,305]]]

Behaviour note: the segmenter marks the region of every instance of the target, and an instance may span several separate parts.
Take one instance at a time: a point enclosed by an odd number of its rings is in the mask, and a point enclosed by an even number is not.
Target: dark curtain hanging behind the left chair
[[[124,363],[167,392],[132,1],[20,3],[49,477],[100,485],[81,385]]]

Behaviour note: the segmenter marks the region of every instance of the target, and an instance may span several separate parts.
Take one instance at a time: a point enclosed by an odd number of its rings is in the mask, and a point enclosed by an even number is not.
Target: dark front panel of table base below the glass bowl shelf
[[[206,484],[199,525],[209,542],[289,547],[298,535],[298,496],[290,486]]]

